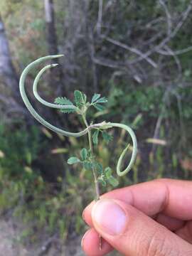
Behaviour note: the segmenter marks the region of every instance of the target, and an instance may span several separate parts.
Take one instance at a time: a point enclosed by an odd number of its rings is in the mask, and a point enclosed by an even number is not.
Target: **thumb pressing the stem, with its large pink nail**
[[[100,199],[92,208],[95,230],[123,255],[192,255],[192,246],[122,201]]]

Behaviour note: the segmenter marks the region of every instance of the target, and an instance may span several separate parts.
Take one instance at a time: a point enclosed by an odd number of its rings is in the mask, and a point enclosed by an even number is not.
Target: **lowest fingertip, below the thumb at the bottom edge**
[[[114,250],[104,239],[100,240],[99,234],[93,228],[85,233],[81,246],[87,256],[102,256]]]

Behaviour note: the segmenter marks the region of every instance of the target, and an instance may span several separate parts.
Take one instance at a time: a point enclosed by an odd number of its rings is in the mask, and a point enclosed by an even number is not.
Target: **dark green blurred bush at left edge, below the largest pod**
[[[30,127],[28,132],[22,124],[19,127],[16,132],[12,132],[11,128],[0,126],[0,151],[4,153],[4,157],[0,158],[0,166],[10,177],[30,178],[34,173],[27,170],[32,169],[31,164],[38,158],[43,144],[36,127]]]

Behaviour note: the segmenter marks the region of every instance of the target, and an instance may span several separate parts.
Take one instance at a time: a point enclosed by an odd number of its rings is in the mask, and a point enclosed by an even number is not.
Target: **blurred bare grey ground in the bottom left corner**
[[[12,219],[0,218],[0,256],[83,256],[80,236],[61,245],[57,238],[44,238],[33,245],[21,242],[21,225]],[[114,255],[114,254],[111,254]]]

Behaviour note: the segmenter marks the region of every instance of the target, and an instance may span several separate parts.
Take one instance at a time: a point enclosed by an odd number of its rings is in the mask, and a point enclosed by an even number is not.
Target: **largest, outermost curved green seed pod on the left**
[[[26,80],[26,76],[28,75],[29,71],[36,67],[36,65],[38,65],[39,63],[42,63],[45,60],[50,60],[53,58],[59,58],[63,55],[48,55],[46,57],[43,58],[39,58],[38,60],[33,61],[33,63],[29,64],[24,70],[23,73],[21,74],[21,78],[19,81],[19,89],[21,92],[21,97],[23,99],[23,102],[25,103],[27,109],[29,112],[31,112],[31,114],[33,115],[33,117],[35,117],[38,122],[41,122],[41,124],[43,124],[45,127],[47,127],[48,129],[51,129],[53,132],[57,132],[58,134],[62,134],[64,136],[67,137],[80,137],[82,135],[87,134],[88,129],[86,128],[85,130],[83,130],[82,132],[66,132],[63,129],[60,129],[58,127],[55,127],[53,124],[50,124],[49,122],[47,122],[45,119],[43,119],[43,117],[41,117],[36,110],[33,109],[33,106],[31,105],[31,103],[28,100],[28,97],[26,96],[26,91],[25,91],[25,80]],[[40,78],[40,76],[39,76]],[[36,81],[38,82],[38,80]],[[42,99],[43,100],[43,99]],[[63,107],[63,106],[62,106]],[[68,106],[69,107],[69,106]],[[70,106],[71,107],[71,106]]]

